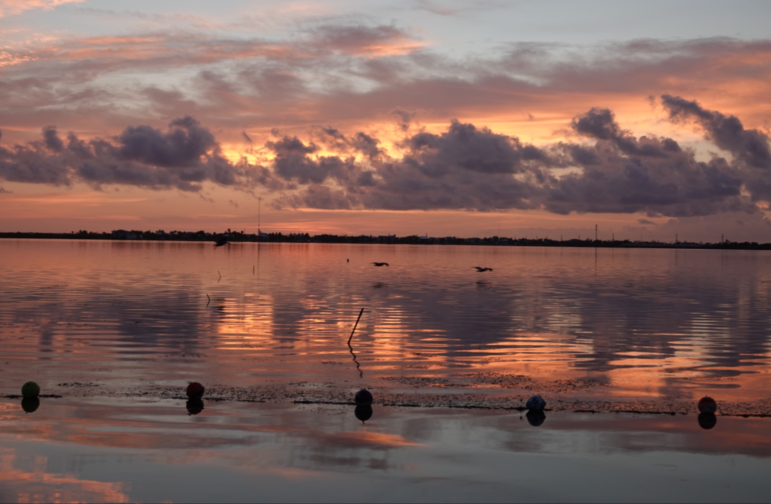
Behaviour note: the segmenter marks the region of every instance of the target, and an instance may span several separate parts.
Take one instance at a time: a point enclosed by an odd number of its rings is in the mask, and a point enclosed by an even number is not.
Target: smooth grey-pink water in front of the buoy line
[[[0,403],[2,502],[768,502],[771,418]],[[535,423],[538,423],[537,421]]]

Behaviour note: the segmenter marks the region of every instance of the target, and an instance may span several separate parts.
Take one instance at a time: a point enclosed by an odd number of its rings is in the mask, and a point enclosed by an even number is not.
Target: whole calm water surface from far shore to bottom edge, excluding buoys
[[[2,502],[771,489],[769,418],[705,430],[693,406],[771,412],[768,252],[0,240],[0,259],[0,394],[62,396],[0,403]],[[365,424],[331,404],[359,387]],[[457,409],[533,393],[557,410],[540,426]]]

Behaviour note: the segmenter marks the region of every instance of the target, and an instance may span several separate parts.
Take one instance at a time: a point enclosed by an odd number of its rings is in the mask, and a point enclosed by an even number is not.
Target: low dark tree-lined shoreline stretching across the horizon
[[[229,230],[228,230],[229,231]],[[216,242],[225,238],[227,242],[276,242],[276,243],[382,243],[406,245],[487,245],[520,247],[582,247],[611,249],[721,249],[721,250],[771,250],[771,243],[758,242],[631,242],[630,240],[553,240],[550,238],[510,238],[491,236],[487,238],[456,238],[455,236],[396,236],[396,235],[309,235],[308,233],[264,233],[248,234],[244,232],[150,232],[126,231],[113,232],[0,232],[0,238],[36,238],[36,239],[78,239],[78,240],[118,240],[127,242]]]

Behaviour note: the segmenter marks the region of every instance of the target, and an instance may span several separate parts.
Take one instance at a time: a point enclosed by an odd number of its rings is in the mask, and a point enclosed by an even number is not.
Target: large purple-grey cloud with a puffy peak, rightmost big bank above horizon
[[[563,147],[582,170],[551,184],[544,201],[549,211],[688,216],[754,210],[741,198],[740,171],[722,158],[699,162],[671,138],[635,138],[608,109],[592,108],[572,125],[598,141]]]

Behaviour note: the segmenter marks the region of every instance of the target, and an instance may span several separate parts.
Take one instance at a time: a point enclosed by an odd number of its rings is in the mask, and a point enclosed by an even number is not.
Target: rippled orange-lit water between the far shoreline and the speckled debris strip
[[[139,376],[171,383],[191,374],[246,385],[354,380],[345,340],[366,307],[354,344],[369,380],[428,377],[446,387],[482,370],[580,378],[631,397],[689,397],[710,387],[771,394],[765,252],[31,240],[0,247],[8,367],[32,360],[50,382],[66,373],[80,376],[67,381],[134,386]],[[375,255],[392,267],[370,267]],[[480,261],[495,268],[484,289],[467,268]]]

